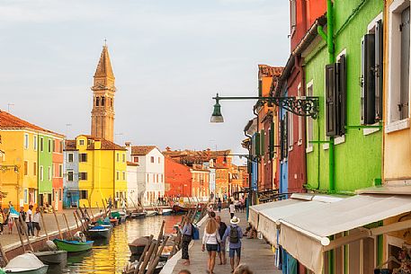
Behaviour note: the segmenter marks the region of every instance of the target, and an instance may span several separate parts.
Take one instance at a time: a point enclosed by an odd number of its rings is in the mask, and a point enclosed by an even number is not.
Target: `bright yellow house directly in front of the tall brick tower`
[[[78,150],[78,189],[80,206],[97,208],[112,199],[121,206],[127,199],[126,149],[111,141],[80,135],[76,137]]]

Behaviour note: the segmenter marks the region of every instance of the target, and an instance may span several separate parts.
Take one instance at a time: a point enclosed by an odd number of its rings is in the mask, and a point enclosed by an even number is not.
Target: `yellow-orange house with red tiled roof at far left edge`
[[[37,205],[39,134],[64,137],[0,110],[0,207]]]

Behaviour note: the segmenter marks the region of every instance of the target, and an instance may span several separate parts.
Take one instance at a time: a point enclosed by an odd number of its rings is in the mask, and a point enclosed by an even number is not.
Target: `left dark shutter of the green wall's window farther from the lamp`
[[[365,34],[362,38],[362,96],[361,123],[375,122],[375,35]]]

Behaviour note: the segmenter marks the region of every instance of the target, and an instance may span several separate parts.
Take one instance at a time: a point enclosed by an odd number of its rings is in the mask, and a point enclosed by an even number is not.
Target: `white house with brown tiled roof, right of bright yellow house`
[[[158,198],[163,198],[165,194],[164,155],[156,146],[130,146],[130,143],[126,143],[126,148],[130,162],[138,164],[138,185],[145,186],[141,201],[149,205],[158,201]]]

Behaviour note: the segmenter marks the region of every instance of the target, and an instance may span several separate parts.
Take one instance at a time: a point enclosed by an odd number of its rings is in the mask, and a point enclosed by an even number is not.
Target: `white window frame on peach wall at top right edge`
[[[400,96],[399,89],[399,69],[400,69],[400,35],[401,32],[396,27],[401,22],[401,12],[410,5],[409,0],[394,0],[389,5],[389,92],[388,92],[388,106],[387,106],[387,126],[385,132],[394,132],[397,130],[410,128],[410,100],[408,96],[408,118],[399,119],[398,101]],[[410,28],[411,30],[411,28]],[[411,66],[411,62],[410,62]],[[411,71],[411,70],[410,70]],[[409,81],[409,80],[408,80]],[[410,84],[411,86],[411,84]]]

